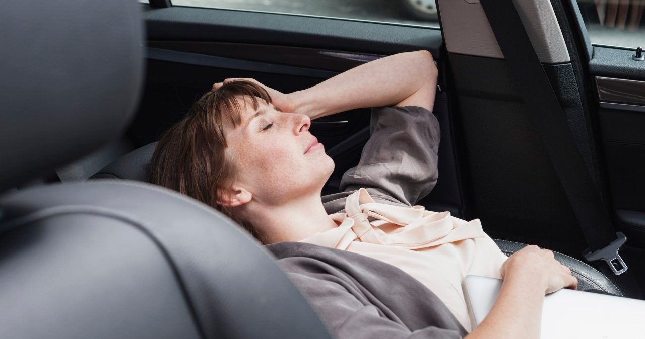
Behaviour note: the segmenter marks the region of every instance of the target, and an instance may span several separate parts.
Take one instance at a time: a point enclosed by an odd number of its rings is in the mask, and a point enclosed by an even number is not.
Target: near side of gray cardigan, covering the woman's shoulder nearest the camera
[[[468,334],[430,289],[395,266],[314,244],[265,247],[338,339]]]

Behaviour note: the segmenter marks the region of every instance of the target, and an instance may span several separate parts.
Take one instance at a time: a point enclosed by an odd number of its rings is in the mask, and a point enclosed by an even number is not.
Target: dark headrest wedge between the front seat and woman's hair
[[[129,179],[150,182],[150,160],[157,143],[148,143],[143,147],[122,156],[99,170],[90,179]]]

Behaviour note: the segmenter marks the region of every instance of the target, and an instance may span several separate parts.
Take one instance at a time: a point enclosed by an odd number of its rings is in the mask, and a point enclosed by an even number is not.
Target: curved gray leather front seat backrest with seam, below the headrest
[[[0,199],[6,338],[330,338],[265,250],[172,190],[96,180]]]

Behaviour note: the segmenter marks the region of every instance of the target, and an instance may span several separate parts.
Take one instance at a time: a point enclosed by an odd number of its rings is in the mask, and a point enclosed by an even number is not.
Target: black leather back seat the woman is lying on
[[[149,182],[150,159],[152,159],[152,153],[156,146],[157,143],[154,142],[135,149],[99,170],[92,178],[129,179]],[[526,244],[513,241],[494,240],[506,255],[511,255],[526,246]],[[600,273],[600,271],[568,255],[559,252],[553,253],[555,258],[570,268],[573,275],[578,278],[579,290],[597,289],[614,295],[620,295],[621,297],[623,296],[622,291],[606,275]]]

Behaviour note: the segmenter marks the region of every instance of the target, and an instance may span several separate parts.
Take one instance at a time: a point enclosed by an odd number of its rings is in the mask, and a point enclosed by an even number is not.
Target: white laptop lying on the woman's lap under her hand
[[[493,307],[502,280],[468,275],[462,287],[475,328]],[[645,338],[645,300],[560,289],[544,297],[541,337]]]

